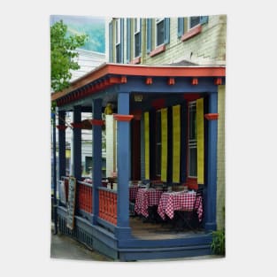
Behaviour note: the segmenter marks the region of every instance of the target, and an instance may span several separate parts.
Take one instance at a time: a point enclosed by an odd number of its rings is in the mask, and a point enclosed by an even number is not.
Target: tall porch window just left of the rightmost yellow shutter
[[[189,102],[189,177],[197,177],[196,101]]]

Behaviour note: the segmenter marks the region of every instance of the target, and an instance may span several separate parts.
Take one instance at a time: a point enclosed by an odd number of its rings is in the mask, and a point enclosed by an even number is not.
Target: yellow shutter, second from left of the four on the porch
[[[161,110],[161,181],[167,181],[167,108]]]

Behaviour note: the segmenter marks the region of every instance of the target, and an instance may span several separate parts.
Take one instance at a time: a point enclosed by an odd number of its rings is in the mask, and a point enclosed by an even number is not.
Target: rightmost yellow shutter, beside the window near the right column
[[[196,100],[197,183],[204,184],[204,100]]]

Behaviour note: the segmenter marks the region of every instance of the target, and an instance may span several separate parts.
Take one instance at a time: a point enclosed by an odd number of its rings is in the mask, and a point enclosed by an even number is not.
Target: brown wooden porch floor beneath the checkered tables
[[[203,229],[192,231],[189,228],[175,227],[172,220],[165,222],[147,222],[144,218],[135,216],[129,218],[132,235],[143,240],[166,240],[191,237],[204,234]]]

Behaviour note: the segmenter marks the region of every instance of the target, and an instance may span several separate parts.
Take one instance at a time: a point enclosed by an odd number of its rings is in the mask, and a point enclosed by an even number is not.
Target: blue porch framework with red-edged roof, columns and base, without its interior
[[[151,76],[151,77],[150,77]],[[58,205],[58,229],[72,235],[95,250],[99,250],[115,260],[128,261],[156,258],[181,258],[211,254],[212,230],[216,229],[217,192],[217,120],[207,120],[205,125],[205,178],[204,178],[204,231],[196,234],[173,234],[166,237],[158,233],[149,239],[134,235],[134,226],[129,217],[128,183],[131,179],[131,120],[137,110],[155,111],[163,107],[172,108],[190,98],[205,99],[205,112],[217,114],[218,84],[224,81],[225,69],[221,67],[173,67],[103,65],[96,71],[75,81],[71,88],[52,97],[58,103],[58,112],[73,112],[73,165],[77,179],[77,207],[74,227],[66,227],[66,208]],[[220,78],[219,78],[220,77]],[[151,82],[149,82],[149,78]],[[195,78],[197,82],[195,82]],[[145,82],[145,79],[148,82]],[[194,79],[194,82],[191,80]],[[170,80],[170,81],[168,81]],[[196,83],[196,84],[195,84]],[[221,83],[221,82],[220,82]],[[135,103],[135,94],[141,94],[142,103]],[[189,98],[187,97],[189,96]],[[162,106],[160,106],[160,99]],[[158,100],[158,106],[157,104]],[[118,189],[114,193],[102,187],[102,113],[108,103],[116,104],[114,111],[117,120],[117,160]],[[92,183],[89,190],[89,209],[80,209],[81,194],[81,112],[92,112],[93,159]],[[65,130],[59,129],[59,176],[65,175]],[[185,132],[182,133],[185,135]],[[185,137],[183,142],[185,142]],[[142,143],[143,147],[143,143]],[[186,150],[181,150],[185,152]],[[185,159],[187,156],[184,154]],[[172,161],[171,161],[172,162]],[[143,163],[142,163],[143,164]],[[184,162],[181,169],[185,171]],[[143,167],[144,166],[144,167]],[[150,165],[153,167],[153,165]],[[145,178],[145,165],[142,165],[141,180]],[[181,173],[181,182],[188,173]],[[170,176],[170,174],[168,174]],[[172,178],[172,175],[171,177]],[[79,182],[79,183],[78,183]],[[165,183],[173,185],[173,181]],[[79,189],[79,190],[78,190]],[[88,191],[87,191],[88,193]],[[116,196],[115,196],[116,195]],[[108,199],[108,200],[107,200]]]

